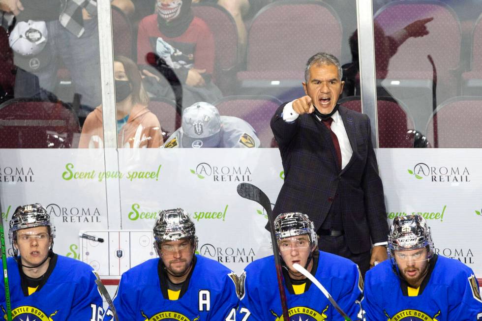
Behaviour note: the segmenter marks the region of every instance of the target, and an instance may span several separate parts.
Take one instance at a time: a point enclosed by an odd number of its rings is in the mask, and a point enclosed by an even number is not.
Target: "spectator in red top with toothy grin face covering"
[[[195,101],[217,100],[221,92],[212,80],[214,70],[214,38],[206,23],[194,17],[191,0],[158,0],[156,13],[139,24],[137,59],[140,65],[152,65],[171,85],[193,93]],[[174,70],[174,73],[171,72]],[[150,70],[155,73],[155,70]],[[151,76],[149,74],[145,75]],[[159,75],[157,75],[159,76]],[[150,86],[153,95],[162,90]],[[165,88],[165,84],[161,84]],[[212,95],[215,99],[212,99]],[[187,95],[186,95],[187,96]],[[188,106],[187,99],[183,99]]]

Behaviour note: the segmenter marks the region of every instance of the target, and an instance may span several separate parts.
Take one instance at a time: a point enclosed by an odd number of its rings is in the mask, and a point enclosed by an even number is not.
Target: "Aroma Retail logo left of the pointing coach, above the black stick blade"
[[[250,182],[251,170],[248,166],[211,165],[199,163],[195,169],[189,169],[199,179],[211,178],[214,182]]]

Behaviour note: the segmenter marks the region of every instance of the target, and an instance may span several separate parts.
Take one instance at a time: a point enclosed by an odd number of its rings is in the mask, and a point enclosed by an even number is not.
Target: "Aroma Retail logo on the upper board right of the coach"
[[[428,178],[431,182],[470,182],[470,173],[465,166],[429,166],[418,163],[407,170],[417,179]]]

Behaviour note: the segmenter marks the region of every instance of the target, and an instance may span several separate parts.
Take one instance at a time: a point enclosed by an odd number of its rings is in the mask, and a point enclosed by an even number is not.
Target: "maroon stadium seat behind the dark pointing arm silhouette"
[[[387,48],[377,45],[425,18],[433,18],[425,25],[429,33],[407,39],[391,58],[386,55]],[[416,127],[422,128],[434,106],[458,94],[461,73],[459,20],[453,9],[440,1],[396,0],[378,10],[375,23],[383,30],[375,32],[377,85],[403,102],[414,116]],[[381,63],[383,55],[388,61]],[[382,70],[382,66],[386,70]]]

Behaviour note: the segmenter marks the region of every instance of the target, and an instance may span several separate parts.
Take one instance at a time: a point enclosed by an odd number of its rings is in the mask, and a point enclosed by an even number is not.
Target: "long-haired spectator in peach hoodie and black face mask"
[[[157,117],[147,108],[149,98],[134,61],[122,56],[115,57],[114,76],[119,147],[161,146],[161,126]],[[86,118],[79,148],[103,148],[103,139],[102,106],[99,106]]]

